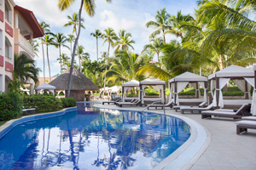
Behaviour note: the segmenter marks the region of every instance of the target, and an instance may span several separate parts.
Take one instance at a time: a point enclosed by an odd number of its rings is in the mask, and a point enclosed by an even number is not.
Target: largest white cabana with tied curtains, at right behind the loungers
[[[230,65],[229,67],[210,75],[208,79],[211,81],[209,87],[211,98],[213,89],[215,88],[215,93],[212,99],[213,106],[220,108],[224,107],[224,99],[221,89],[224,88],[230,80],[233,80],[236,83],[236,86],[246,94],[246,99],[250,99],[250,89],[252,84],[249,80],[253,77],[253,70],[238,65]]]

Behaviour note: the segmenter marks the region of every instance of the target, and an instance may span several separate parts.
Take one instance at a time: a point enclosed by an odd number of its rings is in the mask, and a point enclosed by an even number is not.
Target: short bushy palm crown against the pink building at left
[[[35,83],[38,82],[39,68],[36,68],[36,61],[29,59],[26,54],[15,54],[15,64],[13,75],[15,80],[20,79],[20,82],[26,83],[32,79]]]

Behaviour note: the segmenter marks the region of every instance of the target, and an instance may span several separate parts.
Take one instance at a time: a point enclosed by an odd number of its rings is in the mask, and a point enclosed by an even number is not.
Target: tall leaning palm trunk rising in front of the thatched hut
[[[73,74],[73,61],[75,57],[76,48],[79,42],[79,35],[80,35],[80,26],[81,26],[81,14],[82,14],[82,8],[84,5],[84,0],[81,0],[80,8],[79,8],[79,32],[78,36],[76,37],[76,40],[73,44],[73,54],[71,59],[71,65],[70,65],[70,73],[69,73],[69,80],[68,80],[68,86],[67,86],[67,97],[70,96],[70,88],[71,88],[71,82],[72,82],[72,74]]]

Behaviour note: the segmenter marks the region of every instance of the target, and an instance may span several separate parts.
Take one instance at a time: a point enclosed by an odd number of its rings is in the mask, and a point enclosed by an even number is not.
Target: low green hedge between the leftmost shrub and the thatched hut
[[[32,94],[24,96],[23,101],[25,108],[37,106],[37,112],[59,111],[62,108],[61,100],[50,94]]]

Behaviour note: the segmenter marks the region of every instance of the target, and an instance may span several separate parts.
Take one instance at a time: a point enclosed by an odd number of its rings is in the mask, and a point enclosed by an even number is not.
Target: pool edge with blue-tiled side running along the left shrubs
[[[4,123],[0,127],[0,139],[6,133],[9,133],[9,131],[13,127],[15,127],[16,125],[18,125],[18,124],[20,124],[22,122],[28,122],[28,121],[32,121],[32,120],[44,119],[44,118],[52,117],[52,116],[60,116],[60,115],[64,115],[68,111],[75,111],[75,110],[77,110],[77,107],[69,107],[69,108],[62,109],[61,111],[54,111],[54,112],[49,112],[49,113],[40,113],[40,114],[36,114],[36,115],[22,116],[22,117],[20,117],[18,119],[11,119],[8,122]]]

